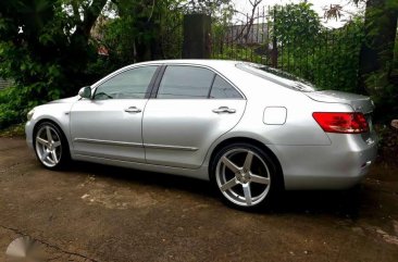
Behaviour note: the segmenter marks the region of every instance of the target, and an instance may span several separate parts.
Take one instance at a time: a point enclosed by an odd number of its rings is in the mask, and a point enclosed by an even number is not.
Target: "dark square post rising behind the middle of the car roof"
[[[183,59],[210,59],[211,18],[207,14],[184,15]]]

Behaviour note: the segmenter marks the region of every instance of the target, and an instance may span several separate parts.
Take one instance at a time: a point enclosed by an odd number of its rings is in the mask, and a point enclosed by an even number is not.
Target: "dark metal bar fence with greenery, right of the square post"
[[[353,91],[358,86],[362,29],[355,22],[322,28],[312,39],[273,34],[276,8],[262,8],[245,23],[213,26],[212,58],[244,60],[279,68],[320,88]]]

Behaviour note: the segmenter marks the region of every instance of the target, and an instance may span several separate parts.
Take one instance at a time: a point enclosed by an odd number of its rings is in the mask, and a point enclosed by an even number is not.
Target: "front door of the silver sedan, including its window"
[[[123,71],[94,88],[71,110],[75,154],[145,162],[142,112],[157,66]]]

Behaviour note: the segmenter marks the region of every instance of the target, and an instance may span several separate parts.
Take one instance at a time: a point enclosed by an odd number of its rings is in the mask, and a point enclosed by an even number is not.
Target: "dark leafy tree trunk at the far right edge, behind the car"
[[[398,116],[397,18],[398,1],[368,2],[359,78],[383,122]]]

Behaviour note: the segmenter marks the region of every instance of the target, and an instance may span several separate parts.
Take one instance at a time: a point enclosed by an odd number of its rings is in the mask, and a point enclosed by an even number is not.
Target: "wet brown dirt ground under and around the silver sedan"
[[[0,261],[30,236],[47,261],[398,261],[398,169],[349,191],[295,191],[277,208],[225,207],[207,182],[88,163],[42,169],[0,138]]]

